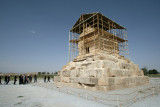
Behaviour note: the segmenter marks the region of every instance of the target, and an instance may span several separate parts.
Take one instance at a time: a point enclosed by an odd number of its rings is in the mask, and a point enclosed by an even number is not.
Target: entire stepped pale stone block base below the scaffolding
[[[149,83],[138,65],[106,54],[70,62],[58,74],[54,77],[55,83],[89,90],[110,91]]]

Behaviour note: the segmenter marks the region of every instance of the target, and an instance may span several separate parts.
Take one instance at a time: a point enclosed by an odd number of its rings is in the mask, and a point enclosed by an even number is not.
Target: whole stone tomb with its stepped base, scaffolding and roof
[[[56,84],[109,91],[149,83],[138,65],[127,59],[125,27],[101,13],[90,13],[82,14],[69,34],[71,59],[54,77]]]

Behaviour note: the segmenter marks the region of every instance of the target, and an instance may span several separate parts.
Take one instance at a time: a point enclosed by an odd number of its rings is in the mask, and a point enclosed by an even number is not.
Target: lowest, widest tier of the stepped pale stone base
[[[111,91],[148,84],[147,76],[137,77],[108,77],[108,78],[70,78],[55,76],[54,81],[61,85],[85,88],[93,91]]]

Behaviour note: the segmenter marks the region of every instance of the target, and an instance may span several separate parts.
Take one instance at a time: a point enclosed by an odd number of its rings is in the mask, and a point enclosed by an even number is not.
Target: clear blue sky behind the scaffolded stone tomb
[[[0,0],[0,72],[60,70],[70,28],[92,12],[127,28],[131,61],[160,71],[160,0]]]

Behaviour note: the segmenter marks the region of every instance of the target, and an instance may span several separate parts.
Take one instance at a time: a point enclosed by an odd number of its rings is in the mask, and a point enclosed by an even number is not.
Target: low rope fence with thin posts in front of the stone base
[[[51,84],[37,83],[34,84],[41,87],[46,87],[59,92],[75,95],[90,101],[103,103],[109,106],[125,107],[132,105],[137,101],[141,101],[147,97],[158,95],[160,93],[160,82],[151,83],[150,85],[141,86],[139,89],[134,89],[132,92],[125,94],[111,94],[107,92],[89,91],[84,89],[56,86]]]

